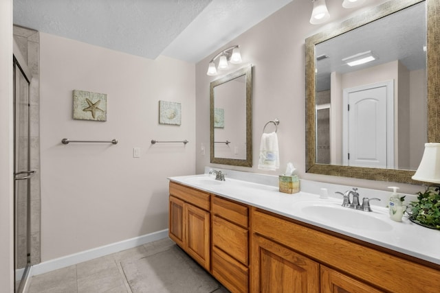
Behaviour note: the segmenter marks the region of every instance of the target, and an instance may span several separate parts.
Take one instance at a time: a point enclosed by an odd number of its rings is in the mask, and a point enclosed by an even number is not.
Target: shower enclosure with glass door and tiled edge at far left
[[[40,40],[36,30],[13,28],[14,275],[15,292],[26,292],[41,262]]]

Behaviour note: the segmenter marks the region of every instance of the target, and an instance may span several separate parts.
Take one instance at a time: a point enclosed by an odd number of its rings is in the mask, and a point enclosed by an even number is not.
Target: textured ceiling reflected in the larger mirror
[[[426,3],[422,2],[318,44],[316,56],[329,57],[317,62],[317,91],[330,89],[331,72],[358,71],[394,60],[410,71],[425,69],[425,46]],[[356,67],[342,61],[365,51],[373,51],[377,60]]]

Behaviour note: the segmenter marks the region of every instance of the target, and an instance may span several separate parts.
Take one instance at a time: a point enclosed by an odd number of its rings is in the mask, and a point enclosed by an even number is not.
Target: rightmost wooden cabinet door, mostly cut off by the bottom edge
[[[321,293],[379,293],[370,285],[361,283],[345,274],[321,266]]]

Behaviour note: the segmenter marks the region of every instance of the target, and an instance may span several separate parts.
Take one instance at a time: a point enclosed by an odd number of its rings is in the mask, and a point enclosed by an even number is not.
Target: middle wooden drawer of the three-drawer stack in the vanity
[[[248,230],[217,215],[212,216],[212,246],[248,265]]]

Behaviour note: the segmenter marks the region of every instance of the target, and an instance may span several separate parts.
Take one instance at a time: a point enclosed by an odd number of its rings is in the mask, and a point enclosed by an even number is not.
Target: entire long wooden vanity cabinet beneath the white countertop
[[[439,265],[173,182],[168,231],[233,293],[440,292]]]

